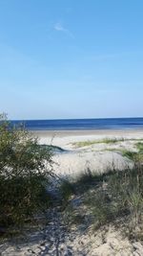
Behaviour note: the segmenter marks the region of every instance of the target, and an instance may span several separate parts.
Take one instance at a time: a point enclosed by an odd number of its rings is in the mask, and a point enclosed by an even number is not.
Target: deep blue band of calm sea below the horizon
[[[143,128],[143,118],[65,119],[12,121],[24,123],[30,130],[136,129]]]

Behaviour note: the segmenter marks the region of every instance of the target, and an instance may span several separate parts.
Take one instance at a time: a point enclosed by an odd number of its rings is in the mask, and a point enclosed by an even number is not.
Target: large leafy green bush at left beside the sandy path
[[[13,127],[0,116],[0,227],[22,225],[51,204],[46,191],[51,171],[51,149],[22,126]]]

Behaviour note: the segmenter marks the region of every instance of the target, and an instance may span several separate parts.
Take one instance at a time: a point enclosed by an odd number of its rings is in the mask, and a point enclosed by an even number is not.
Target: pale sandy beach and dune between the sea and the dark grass
[[[143,129],[48,130],[32,134],[42,145],[61,148],[52,157],[53,170],[56,175],[73,179],[88,170],[105,173],[113,168],[131,168],[132,161],[122,151],[136,151],[135,144],[143,139]]]

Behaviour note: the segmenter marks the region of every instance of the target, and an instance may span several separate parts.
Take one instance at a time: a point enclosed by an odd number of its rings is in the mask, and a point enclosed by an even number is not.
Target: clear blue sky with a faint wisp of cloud
[[[0,0],[0,112],[143,116],[142,0]]]

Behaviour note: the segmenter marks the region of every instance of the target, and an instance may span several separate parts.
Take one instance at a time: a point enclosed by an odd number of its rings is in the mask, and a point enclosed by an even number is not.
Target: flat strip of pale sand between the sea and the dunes
[[[31,131],[40,144],[59,147],[69,143],[102,138],[143,138],[143,129],[85,129],[85,130],[35,130]]]

